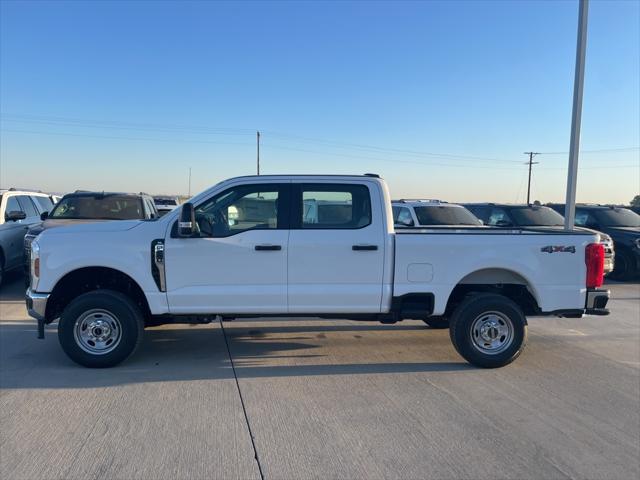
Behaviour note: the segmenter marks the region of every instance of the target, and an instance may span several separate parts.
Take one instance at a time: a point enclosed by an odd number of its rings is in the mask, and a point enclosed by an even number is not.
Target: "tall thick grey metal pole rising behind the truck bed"
[[[578,153],[580,152],[580,121],[582,119],[582,92],[584,87],[584,61],[587,51],[587,17],[589,0],[580,0],[578,13],[578,43],[576,71],[573,79],[573,109],[571,112],[571,143],[569,144],[569,173],[567,199],[564,205],[564,229],[573,230],[576,216],[576,183],[578,182]]]

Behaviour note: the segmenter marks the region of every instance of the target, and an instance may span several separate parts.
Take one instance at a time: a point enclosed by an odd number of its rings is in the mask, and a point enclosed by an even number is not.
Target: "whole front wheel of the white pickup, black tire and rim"
[[[77,329],[76,322],[81,322]],[[133,354],[142,340],[143,329],[140,309],[130,298],[112,290],[95,290],[75,298],[64,309],[58,323],[58,340],[74,362],[84,367],[108,368]],[[105,331],[110,333],[105,336],[106,341],[96,341],[102,337],[95,335]]]

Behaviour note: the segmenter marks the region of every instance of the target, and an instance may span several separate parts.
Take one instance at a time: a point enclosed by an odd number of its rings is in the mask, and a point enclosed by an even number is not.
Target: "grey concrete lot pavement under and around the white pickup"
[[[2,479],[640,476],[638,283],[609,317],[530,319],[498,370],[422,322],[296,319],[157,327],[90,370],[55,325],[36,339],[21,286],[0,292]]]

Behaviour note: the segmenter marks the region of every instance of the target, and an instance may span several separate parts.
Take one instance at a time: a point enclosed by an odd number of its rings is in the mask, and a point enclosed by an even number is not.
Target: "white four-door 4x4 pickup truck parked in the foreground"
[[[585,232],[396,232],[377,175],[249,176],[159,219],[46,230],[26,302],[39,336],[59,319],[87,367],[125,360],[146,326],[217,316],[420,319],[500,367],[522,352],[526,316],[608,313],[603,258]]]

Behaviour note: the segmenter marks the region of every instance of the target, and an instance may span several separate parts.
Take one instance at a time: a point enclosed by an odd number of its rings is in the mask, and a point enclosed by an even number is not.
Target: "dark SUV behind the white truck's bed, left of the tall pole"
[[[507,228],[536,227],[553,230],[562,230],[564,228],[564,217],[544,205],[514,205],[508,203],[467,203],[464,205],[486,225]],[[604,246],[604,273],[611,273],[616,255],[613,240],[606,233],[590,229],[585,230],[589,230],[599,236],[599,241]]]

